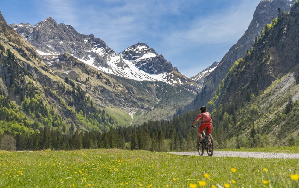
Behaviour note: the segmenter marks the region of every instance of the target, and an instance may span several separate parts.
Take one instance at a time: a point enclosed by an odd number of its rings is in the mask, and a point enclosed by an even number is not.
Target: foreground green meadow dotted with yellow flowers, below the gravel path
[[[144,150],[0,152],[0,187],[190,187],[199,181],[206,187],[296,187],[290,175],[298,174],[298,164]]]

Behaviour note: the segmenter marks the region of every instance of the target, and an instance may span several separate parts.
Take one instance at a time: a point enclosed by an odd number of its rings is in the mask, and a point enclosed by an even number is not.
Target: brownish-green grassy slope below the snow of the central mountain
[[[105,107],[128,125],[132,118],[137,123],[169,118],[177,108],[194,98],[194,94],[179,84],[171,86],[159,81],[135,81],[110,75],[84,64],[69,53],[47,56],[44,60],[56,75],[80,84],[95,105]]]

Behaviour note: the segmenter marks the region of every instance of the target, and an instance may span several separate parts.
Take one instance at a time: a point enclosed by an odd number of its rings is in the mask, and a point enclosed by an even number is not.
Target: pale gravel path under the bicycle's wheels
[[[198,152],[169,152],[176,155],[196,155]],[[203,156],[208,156],[207,152]],[[213,157],[254,157],[254,158],[284,158],[298,159],[299,153],[266,153],[266,152],[234,152],[234,151],[214,151]]]

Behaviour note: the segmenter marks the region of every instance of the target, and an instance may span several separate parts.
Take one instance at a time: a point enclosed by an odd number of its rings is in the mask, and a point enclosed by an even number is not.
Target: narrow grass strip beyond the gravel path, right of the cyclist
[[[263,148],[240,148],[219,149],[216,151],[243,151],[243,152],[270,152],[270,153],[299,153],[299,146],[263,147]]]

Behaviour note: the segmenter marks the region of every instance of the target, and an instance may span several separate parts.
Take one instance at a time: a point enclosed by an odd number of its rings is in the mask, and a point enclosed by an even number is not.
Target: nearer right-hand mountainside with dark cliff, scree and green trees
[[[265,26],[244,58],[234,63],[208,108],[223,147],[298,143],[299,4]],[[297,140],[297,141],[296,141]]]

